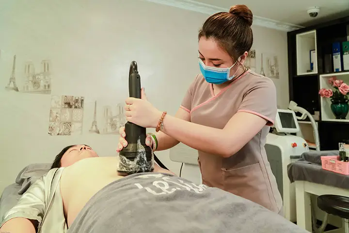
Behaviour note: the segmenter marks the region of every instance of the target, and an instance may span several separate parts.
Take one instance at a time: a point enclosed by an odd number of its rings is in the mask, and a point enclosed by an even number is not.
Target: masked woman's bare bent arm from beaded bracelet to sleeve
[[[223,129],[207,127],[174,116],[163,119],[163,133],[196,150],[230,157],[246,145],[267,123],[250,113],[237,113]]]

